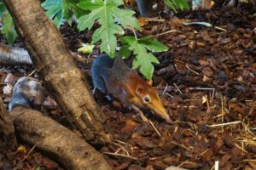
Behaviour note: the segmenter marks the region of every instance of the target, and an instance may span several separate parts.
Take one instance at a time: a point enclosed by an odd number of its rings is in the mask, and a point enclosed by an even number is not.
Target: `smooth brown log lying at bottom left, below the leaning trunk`
[[[102,155],[84,139],[39,111],[16,106],[10,115],[19,139],[36,145],[66,169],[111,169]]]

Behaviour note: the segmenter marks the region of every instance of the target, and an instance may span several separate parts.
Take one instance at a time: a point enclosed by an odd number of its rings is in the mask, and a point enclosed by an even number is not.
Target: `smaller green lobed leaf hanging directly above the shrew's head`
[[[119,39],[125,46],[130,46],[129,49],[133,50],[136,54],[136,58],[132,62],[132,68],[139,68],[139,71],[147,79],[153,76],[154,65],[159,64],[158,59],[153,54],[147,52],[150,51],[160,52],[166,51],[167,48],[157,40],[150,40],[147,38],[136,39],[135,37],[121,37]],[[123,45],[123,46],[124,46]],[[127,47],[125,47],[127,48]]]

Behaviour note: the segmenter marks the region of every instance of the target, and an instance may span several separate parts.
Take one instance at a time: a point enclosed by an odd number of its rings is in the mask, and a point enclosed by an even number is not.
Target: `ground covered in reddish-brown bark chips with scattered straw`
[[[217,162],[225,170],[256,169],[255,11],[241,5],[181,13],[159,21],[141,20],[144,26],[138,36],[154,35],[169,47],[156,54],[160,65],[155,65],[153,80],[173,123],[148,110],[143,112],[152,124],[142,122],[135,111],[118,101],[98,100],[116,139],[98,150],[113,169],[165,169],[171,165],[213,169]],[[205,21],[212,27],[183,25],[192,21]],[[61,26],[61,34],[73,52],[79,42],[91,40],[90,31],[79,33],[75,26]],[[1,42],[6,42],[3,37]],[[23,46],[19,41],[15,45]],[[97,48],[93,57],[75,58],[89,80]],[[32,71],[26,65],[1,66],[0,94],[6,105],[11,97],[8,86]],[[7,77],[9,82],[4,82]],[[45,99],[44,109],[68,127],[50,97]],[[61,169],[37,150],[28,154],[31,148],[20,143],[16,150],[0,153],[0,169]]]

